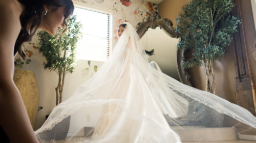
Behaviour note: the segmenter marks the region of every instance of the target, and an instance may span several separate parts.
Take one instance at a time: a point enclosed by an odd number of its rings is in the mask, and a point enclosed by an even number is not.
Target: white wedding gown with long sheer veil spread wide
[[[58,142],[68,118],[65,142],[174,143],[184,136],[204,139],[191,128],[236,128],[235,135],[256,128],[246,109],[150,66],[139,36],[126,24],[108,61],[35,131],[40,142]]]

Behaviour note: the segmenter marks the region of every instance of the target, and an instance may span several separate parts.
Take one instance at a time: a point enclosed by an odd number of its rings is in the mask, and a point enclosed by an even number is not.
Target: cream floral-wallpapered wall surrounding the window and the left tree
[[[113,47],[118,40],[117,28],[119,24],[129,21],[134,27],[139,22],[146,20],[150,12],[158,12],[158,6],[143,0],[77,0],[82,3],[95,5],[113,10]],[[37,113],[35,130],[40,128],[48,115],[55,106],[55,90],[58,76],[55,72],[44,69],[44,62],[47,62],[42,53],[36,48],[39,42],[38,36],[34,36],[32,42],[24,44],[27,60],[24,61],[19,55],[15,58],[15,69],[33,71],[38,81],[40,101],[39,106],[44,107]],[[63,91],[63,101],[68,99],[75,90],[101,67],[103,62],[78,60],[74,69],[74,74],[67,74],[65,77],[65,91]],[[68,87],[68,88],[67,88]]]

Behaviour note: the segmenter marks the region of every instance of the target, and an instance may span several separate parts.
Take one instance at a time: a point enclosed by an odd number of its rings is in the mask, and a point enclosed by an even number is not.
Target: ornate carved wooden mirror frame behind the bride
[[[179,38],[180,41],[182,40],[181,35],[175,32],[175,29],[173,27],[173,22],[170,21],[170,19],[168,18],[161,18],[161,16],[155,12],[150,13],[146,21],[140,22],[136,26],[137,33],[140,39],[147,32],[148,28],[152,28],[154,30],[156,27],[160,27],[160,29],[163,30],[168,36],[172,38],[177,38],[177,39]],[[180,80],[182,83],[191,86],[191,83],[189,81],[190,75],[188,75],[186,69],[184,70],[182,69],[183,61],[185,59],[184,50],[177,50],[176,55],[177,55],[176,65],[177,65]]]

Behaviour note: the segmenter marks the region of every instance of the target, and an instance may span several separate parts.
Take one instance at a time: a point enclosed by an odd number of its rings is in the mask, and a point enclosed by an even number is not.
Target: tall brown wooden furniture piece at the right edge
[[[236,4],[236,7],[232,9],[231,12],[233,16],[238,16],[242,22],[238,25],[238,32],[233,35],[233,57],[237,75],[235,93],[237,104],[249,110],[254,116],[256,116],[256,94],[252,81],[249,57],[246,50],[244,23],[240,1],[241,0],[232,0],[232,2]]]

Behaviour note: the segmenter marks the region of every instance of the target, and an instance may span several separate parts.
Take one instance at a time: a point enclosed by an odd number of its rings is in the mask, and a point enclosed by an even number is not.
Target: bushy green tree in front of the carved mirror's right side
[[[176,17],[176,32],[182,34],[177,49],[193,52],[193,58],[183,62],[183,69],[204,66],[205,91],[215,94],[216,77],[212,66],[223,58],[240,20],[230,16],[231,0],[191,0]],[[211,78],[212,77],[212,78]]]

